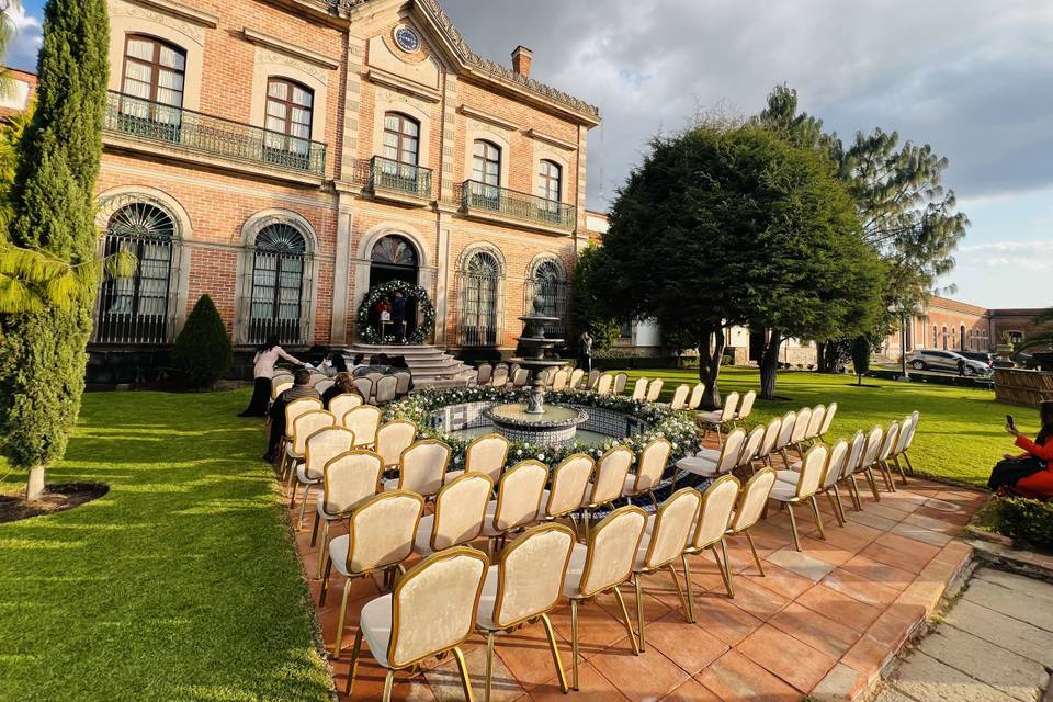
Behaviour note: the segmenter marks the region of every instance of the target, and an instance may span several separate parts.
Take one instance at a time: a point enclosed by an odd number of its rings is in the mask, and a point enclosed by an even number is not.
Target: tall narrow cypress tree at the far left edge
[[[11,244],[71,265],[94,259],[109,32],[105,0],[47,3],[36,112],[12,188]],[[12,465],[29,471],[27,499],[77,421],[94,292],[88,285],[68,309],[0,315],[0,437]]]

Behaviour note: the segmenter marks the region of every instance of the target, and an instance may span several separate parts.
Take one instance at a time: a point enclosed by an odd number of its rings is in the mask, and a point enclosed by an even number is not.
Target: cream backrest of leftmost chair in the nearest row
[[[403,576],[392,595],[388,665],[407,667],[463,643],[475,626],[488,566],[486,554],[456,548]]]

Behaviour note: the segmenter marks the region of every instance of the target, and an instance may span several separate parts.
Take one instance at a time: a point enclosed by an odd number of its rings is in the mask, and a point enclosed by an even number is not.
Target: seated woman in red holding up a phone
[[[1016,445],[1024,453],[1007,453],[992,471],[987,487],[1043,501],[1053,498],[1053,401],[1039,406],[1039,421],[1042,429],[1031,441],[1017,429],[1012,415],[1006,415],[1006,433],[1016,437]]]

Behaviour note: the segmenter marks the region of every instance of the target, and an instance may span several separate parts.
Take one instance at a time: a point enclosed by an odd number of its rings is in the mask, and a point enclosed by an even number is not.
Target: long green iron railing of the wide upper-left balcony
[[[326,145],[111,91],[105,131],[313,176],[326,174]]]

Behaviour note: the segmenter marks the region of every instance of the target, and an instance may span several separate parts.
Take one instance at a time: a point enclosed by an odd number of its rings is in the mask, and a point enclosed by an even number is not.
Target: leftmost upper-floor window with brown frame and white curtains
[[[137,120],[166,125],[163,128],[171,134],[156,136],[174,138],[182,121],[185,72],[186,53],[182,48],[152,36],[128,34],[121,78],[121,92],[126,95],[121,100],[122,124],[127,124],[128,131],[143,128],[136,125]]]

